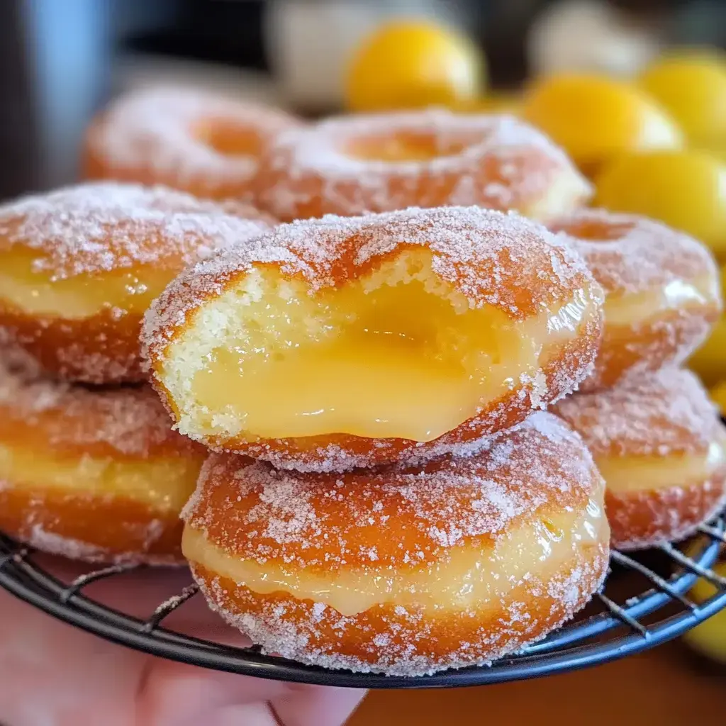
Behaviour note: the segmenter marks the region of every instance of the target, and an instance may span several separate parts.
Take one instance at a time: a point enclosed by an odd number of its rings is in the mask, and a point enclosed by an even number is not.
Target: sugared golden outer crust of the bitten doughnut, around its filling
[[[433,278],[465,309],[493,306],[515,321],[546,316],[547,334],[560,336],[558,347],[552,346],[539,370],[513,380],[502,399],[425,446],[403,439],[367,439],[356,451],[351,437],[330,436],[325,441],[245,441],[240,449],[237,440],[211,441],[197,431],[192,381],[226,337],[241,334],[237,310],[272,294],[258,284],[259,270],[276,268],[282,280],[303,282],[307,294],[314,296],[371,275],[408,250],[430,254]],[[142,340],[152,381],[183,433],[282,468],[346,470],[457,451],[570,393],[595,359],[602,301],[602,290],[582,258],[535,222],[478,207],[410,208],[282,224],[190,267],[152,304]]]

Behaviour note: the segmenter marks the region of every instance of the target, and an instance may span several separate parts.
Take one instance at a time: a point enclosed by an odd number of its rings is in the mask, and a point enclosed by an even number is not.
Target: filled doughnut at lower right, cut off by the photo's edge
[[[693,373],[664,369],[555,408],[605,478],[613,547],[683,539],[726,503],[726,427]]]

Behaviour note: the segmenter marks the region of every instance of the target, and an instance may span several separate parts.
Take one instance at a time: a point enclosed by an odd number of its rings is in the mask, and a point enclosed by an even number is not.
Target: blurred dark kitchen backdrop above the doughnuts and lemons
[[[627,76],[663,46],[726,44],[720,0],[0,0],[0,198],[73,181],[90,116],[134,86],[340,110],[351,50],[401,16],[466,33],[490,89],[563,68]]]

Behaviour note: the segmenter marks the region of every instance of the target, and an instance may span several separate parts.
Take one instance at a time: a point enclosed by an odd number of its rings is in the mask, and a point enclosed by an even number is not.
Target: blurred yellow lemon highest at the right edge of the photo
[[[667,55],[645,69],[640,85],[668,110],[691,144],[726,144],[725,55]]]

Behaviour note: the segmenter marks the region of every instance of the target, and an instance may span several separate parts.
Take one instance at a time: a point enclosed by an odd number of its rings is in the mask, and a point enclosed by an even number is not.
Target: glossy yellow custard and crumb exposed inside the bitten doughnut
[[[537,380],[548,346],[574,335],[587,307],[582,296],[571,310],[525,322],[492,306],[470,309],[433,276],[428,253],[405,253],[314,296],[272,271],[251,273],[245,285],[207,306],[175,357],[199,361],[191,377],[177,373],[178,388],[192,378],[197,431],[252,440],[436,439],[523,377]],[[200,341],[220,319],[216,338]]]

